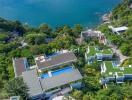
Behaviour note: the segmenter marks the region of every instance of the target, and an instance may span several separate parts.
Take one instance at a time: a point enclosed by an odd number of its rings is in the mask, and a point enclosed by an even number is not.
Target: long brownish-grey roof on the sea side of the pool
[[[41,55],[42,56],[42,55]],[[45,69],[49,67],[58,66],[61,64],[67,64],[76,61],[77,58],[73,52],[61,53],[52,57],[47,57],[45,61],[36,60],[36,64],[39,69]]]

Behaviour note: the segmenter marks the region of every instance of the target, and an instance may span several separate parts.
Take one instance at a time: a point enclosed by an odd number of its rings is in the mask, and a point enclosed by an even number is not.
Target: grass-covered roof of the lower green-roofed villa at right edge
[[[132,67],[117,67],[113,66],[112,61],[105,61],[106,72],[103,73],[106,77],[113,77],[116,73],[118,76],[123,76],[124,74],[132,74]]]

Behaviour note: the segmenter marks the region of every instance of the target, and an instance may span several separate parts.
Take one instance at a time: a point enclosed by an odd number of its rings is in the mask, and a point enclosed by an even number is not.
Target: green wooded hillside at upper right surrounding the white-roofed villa
[[[123,0],[113,9],[111,23],[114,27],[127,26],[129,29],[121,35],[113,34],[109,28],[109,24],[102,24],[98,27],[105,33],[107,39],[116,45],[126,56],[132,57],[132,8],[130,7],[132,0]]]

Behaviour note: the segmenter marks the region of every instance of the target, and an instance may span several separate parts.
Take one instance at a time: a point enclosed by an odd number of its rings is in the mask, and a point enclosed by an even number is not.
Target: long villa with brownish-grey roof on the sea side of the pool
[[[42,72],[45,69],[52,69],[58,66],[71,64],[76,62],[77,58],[75,54],[71,51],[62,50],[51,55],[38,55],[35,56],[36,66],[39,72]]]

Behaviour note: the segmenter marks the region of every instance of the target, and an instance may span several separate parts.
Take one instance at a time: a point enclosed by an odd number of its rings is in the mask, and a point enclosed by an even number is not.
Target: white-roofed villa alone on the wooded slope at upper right
[[[125,32],[126,30],[128,30],[128,27],[126,26],[122,26],[122,27],[116,27],[114,28],[113,26],[108,26],[108,28],[110,30],[112,30],[113,33],[120,35],[121,33]]]

